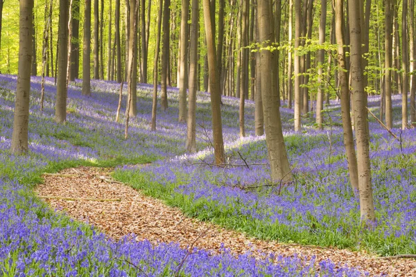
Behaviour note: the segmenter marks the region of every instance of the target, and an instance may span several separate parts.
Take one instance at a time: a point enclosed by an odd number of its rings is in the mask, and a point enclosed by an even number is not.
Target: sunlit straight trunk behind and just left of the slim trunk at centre
[[[182,0],[180,20],[180,78],[179,78],[179,116],[178,121],[184,122],[187,116],[188,88],[188,18],[189,0]]]

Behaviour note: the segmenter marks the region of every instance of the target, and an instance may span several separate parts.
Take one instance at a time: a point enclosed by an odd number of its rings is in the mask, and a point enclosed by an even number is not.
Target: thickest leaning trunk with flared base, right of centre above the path
[[[268,50],[272,40],[274,22],[270,19],[270,0],[258,1],[257,17],[259,22],[259,43],[261,60],[261,97],[263,98],[263,114],[265,118],[266,144],[270,161],[272,181],[291,181],[292,174],[284,146],[283,132],[281,129],[280,111],[277,101],[277,91],[271,88],[272,53]]]

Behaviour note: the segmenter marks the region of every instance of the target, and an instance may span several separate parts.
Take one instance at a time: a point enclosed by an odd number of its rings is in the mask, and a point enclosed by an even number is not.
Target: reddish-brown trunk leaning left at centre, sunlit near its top
[[[211,114],[212,114],[212,133],[214,136],[214,157],[217,165],[225,163],[223,124],[221,123],[221,91],[220,82],[217,81],[215,33],[212,11],[209,0],[202,0],[204,8],[205,37],[207,39],[208,50],[208,71],[209,88],[211,90]]]

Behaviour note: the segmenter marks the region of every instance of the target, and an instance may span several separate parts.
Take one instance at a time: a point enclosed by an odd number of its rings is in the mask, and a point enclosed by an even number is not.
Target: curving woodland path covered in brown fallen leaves
[[[257,240],[238,231],[200,222],[178,208],[114,181],[110,176],[112,170],[78,167],[44,175],[44,183],[35,192],[51,208],[96,226],[114,240],[134,234],[132,239],[149,240],[153,244],[173,242],[183,248],[198,247],[214,253],[229,251],[236,256],[250,251],[255,258],[264,258],[270,253],[298,256],[306,261],[315,257],[318,262],[331,260],[339,266],[358,267],[372,276],[416,276],[415,259],[379,258],[348,249]]]

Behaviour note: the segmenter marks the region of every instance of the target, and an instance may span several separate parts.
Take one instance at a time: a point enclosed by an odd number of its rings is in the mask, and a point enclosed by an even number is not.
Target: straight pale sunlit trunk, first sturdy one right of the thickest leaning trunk
[[[297,48],[300,46],[301,26],[300,26],[300,0],[295,0],[295,132],[300,131],[300,56]],[[263,88],[262,88],[263,89]]]

